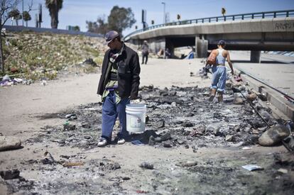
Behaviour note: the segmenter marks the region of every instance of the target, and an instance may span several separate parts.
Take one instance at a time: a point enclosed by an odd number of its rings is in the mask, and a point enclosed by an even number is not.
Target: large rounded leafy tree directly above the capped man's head
[[[131,8],[124,8],[119,6],[114,6],[110,15],[108,16],[108,28],[110,30],[116,30],[119,34],[126,28],[131,28],[133,24],[136,23],[134,18],[134,13]]]

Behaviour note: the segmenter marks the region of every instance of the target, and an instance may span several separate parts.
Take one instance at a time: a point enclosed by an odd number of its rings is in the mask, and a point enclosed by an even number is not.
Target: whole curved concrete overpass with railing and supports
[[[251,61],[260,62],[261,50],[294,50],[294,10],[245,13],[199,18],[151,26],[126,35],[124,40],[141,45],[148,40],[151,52],[195,46],[196,57],[227,41],[228,50],[251,50]]]

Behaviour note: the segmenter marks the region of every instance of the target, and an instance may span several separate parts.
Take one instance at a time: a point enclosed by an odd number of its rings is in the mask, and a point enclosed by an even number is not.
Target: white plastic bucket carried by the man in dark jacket
[[[143,133],[146,120],[145,104],[126,105],[126,130],[129,133]]]

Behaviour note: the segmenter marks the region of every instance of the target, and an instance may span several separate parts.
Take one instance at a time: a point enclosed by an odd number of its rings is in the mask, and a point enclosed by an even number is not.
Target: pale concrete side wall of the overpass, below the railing
[[[131,35],[131,39],[148,39],[165,35],[197,35],[218,33],[294,32],[294,17],[263,18],[245,21],[192,23],[180,26],[163,26]],[[152,33],[151,33],[152,32]]]

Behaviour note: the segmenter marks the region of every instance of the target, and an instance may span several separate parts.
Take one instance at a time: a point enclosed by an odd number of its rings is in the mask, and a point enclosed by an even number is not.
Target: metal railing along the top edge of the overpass
[[[136,30],[133,33],[130,33],[129,35],[126,35],[124,37],[124,40],[126,40],[128,37],[136,33],[141,33],[146,30],[160,28],[163,26],[177,26],[177,25],[185,25],[185,24],[192,24],[192,23],[212,23],[212,22],[220,22],[220,21],[240,21],[240,20],[248,20],[248,19],[258,19],[258,18],[281,18],[281,17],[290,17],[290,16],[294,16],[294,10],[241,13],[241,14],[235,14],[235,15],[229,15],[229,16],[214,16],[209,18],[197,18],[192,20],[162,23],[162,24],[158,24],[154,26],[149,26],[147,28],[142,28],[140,30]]]

